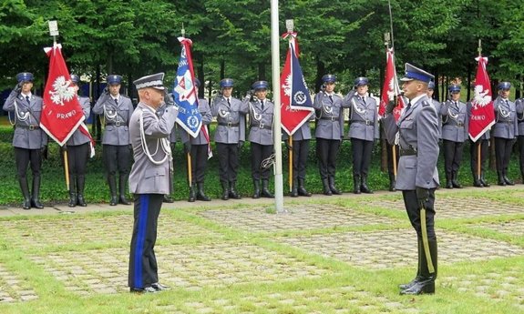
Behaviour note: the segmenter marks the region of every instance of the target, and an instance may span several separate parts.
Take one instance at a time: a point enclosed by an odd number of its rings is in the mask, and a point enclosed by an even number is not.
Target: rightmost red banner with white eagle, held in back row
[[[471,113],[469,116],[469,137],[477,142],[479,137],[495,124],[495,111],[493,109],[493,94],[489,82],[488,58],[478,56],[477,77],[475,78],[475,94],[471,100]]]

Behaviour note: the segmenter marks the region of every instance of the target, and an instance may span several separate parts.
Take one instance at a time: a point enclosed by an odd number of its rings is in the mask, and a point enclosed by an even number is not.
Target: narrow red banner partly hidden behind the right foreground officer
[[[400,87],[398,86],[398,81],[396,80],[396,68],[393,49],[387,49],[385,56],[385,78],[384,86],[382,86],[382,93],[380,96],[380,106],[378,106],[378,116],[384,116],[385,106],[387,106],[390,101],[394,101],[395,96],[397,96],[396,106],[393,109],[393,116],[395,116],[395,120],[398,120],[405,104],[404,98],[400,96]]]

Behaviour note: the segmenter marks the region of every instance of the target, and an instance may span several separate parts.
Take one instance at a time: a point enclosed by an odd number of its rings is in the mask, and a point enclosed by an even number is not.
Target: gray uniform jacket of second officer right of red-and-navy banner
[[[349,107],[349,133],[347,137],[373,141],[380,137],[376,100],[354,91],[344,97],[344,105]]]

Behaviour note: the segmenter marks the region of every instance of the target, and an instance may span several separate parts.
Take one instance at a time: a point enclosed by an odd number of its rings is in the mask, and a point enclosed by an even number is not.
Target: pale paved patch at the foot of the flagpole
[[[200,211],[198,214],[222,225],[256,232],[360,227],[396,222],[391,218],[360,213],[332,204],[313,204],[287,209],[289,214],[269,214],[264,208],[211,209]]]

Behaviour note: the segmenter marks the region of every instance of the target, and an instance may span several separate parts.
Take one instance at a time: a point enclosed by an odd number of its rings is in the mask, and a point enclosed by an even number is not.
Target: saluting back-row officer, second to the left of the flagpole
[[[211,114],[217,117],[215,142],[219,153],[219,175],[221,178],[223,200],[240,199],[236,191],[239,152],[244,143],[245,115],[248,114],[248,101],[240,101],[231,96],[234,82],[231,78],[221,80],[221,96],[214,99]],[[242,137],[243,136],[243,137]]]

